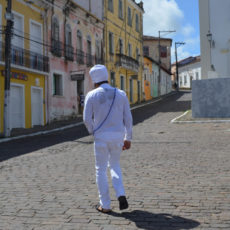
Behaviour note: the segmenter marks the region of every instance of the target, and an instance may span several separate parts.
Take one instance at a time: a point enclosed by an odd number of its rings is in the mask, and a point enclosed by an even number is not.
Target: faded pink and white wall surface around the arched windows
[[[86,3],[85,3],[86,4]],[[87,53],[87,38],[91,39],[91,54],[95,55],[96,41],[100,45],[103,41],[103,27],[101,22],[98,22],[95,17],[87,17],[86,11],[77,7],[74,13],[70,13],[65,17],[59,8],[54,8],[54,12],[48,13],[48,41],[51,43],[51,19],[56,17],[59,20],[59,36],[64,48],[65,41],[65,25],[69,24],[72,33],[72,46],[74,48],[74,61],[67,61],[63,57],[56,57],[51,52],[50,56],[50,77],[49,77],[49,121],[67,119],[78,114],[77,101],[77,81],[71,80],[71,74],[74,72],[82,72],[84,74],[84,89],[86,95],[93,88],[92,81],[89,77],[89,69],[86,63],[80,65],[76,61],[77,49],[77,31],[82,34],[84,59]],[[53,95],[53,75],[60,74],[63,79],[63,95]]]

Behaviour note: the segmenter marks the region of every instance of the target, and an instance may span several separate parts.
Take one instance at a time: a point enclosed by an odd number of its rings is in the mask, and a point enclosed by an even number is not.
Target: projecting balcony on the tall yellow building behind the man
[[[139,62],[136,59],[120,53],[116,54],[116,65],[134,72],[138,72],[139,69]]]

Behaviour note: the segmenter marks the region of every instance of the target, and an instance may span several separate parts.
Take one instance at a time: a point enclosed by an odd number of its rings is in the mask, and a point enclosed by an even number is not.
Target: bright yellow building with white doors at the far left
[[[7,1],[0,0],[0,26],[6,25]],[[12,1],[10,129],[46,123],[48,58],[44,56],[44,11],[26,1]],[[5,35],[0,36],[0,133],[4,131]]]

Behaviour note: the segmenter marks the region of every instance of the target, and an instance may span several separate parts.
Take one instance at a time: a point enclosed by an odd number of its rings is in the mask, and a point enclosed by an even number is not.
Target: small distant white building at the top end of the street
[[[201,79],[200,56],[188,57],[178,62],[179,88],[191,89],[193,80]]]

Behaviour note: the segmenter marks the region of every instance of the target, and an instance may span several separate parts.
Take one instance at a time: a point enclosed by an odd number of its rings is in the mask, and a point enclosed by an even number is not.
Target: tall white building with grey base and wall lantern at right
[[[202,79],[192,85],[193,117],[230,117],[229,10],[229,0],[199,0]]]

